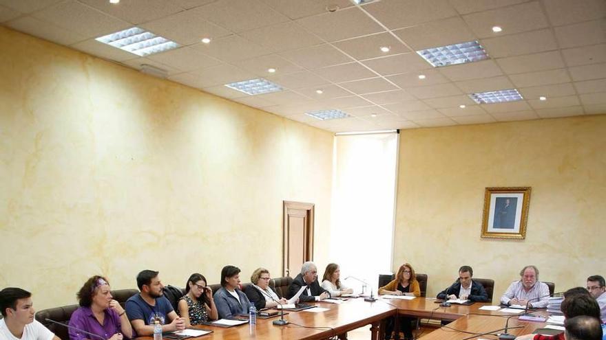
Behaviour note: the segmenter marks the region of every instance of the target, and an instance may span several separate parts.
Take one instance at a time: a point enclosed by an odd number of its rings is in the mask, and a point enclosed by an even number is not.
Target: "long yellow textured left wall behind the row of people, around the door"
[[[0,46],[0,287],[39,309],[98,273],[277,277],[282,200],[316,204],[326,257],[331,133],[3,27]]]

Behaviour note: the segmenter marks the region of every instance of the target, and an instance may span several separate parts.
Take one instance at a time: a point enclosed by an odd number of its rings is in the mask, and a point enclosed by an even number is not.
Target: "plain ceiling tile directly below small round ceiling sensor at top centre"
[[[326,41],[338,41],[384,31],[357,7],[308,16],[297,20],[297,23]]]

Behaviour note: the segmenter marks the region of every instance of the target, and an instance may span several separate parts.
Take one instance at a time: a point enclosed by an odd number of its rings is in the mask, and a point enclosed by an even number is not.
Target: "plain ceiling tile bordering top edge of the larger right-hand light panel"
[[[459,16],[406,27],[393,33],[416,51],[476,40],[467,24]]]

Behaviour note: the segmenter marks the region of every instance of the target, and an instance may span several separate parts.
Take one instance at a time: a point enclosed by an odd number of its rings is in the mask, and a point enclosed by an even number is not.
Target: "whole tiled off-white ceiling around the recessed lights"
[[[606,113],[605,0],[0,0],[0,23],[328,131]],[[94,40],[133,25],[182,47],[139,58]],[[415,53],[471,40],[489,60],[434,68]],[[223,86],[260,77],[285,91]],[[477,105],[467,96],[512,87],[523,101]],[[304,114],[320,109],[353,117]]]

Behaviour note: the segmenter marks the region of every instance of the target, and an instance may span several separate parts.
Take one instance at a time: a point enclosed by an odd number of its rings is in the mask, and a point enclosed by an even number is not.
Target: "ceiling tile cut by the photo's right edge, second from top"
[[[606,19],[555,28],[561,48],[606,43]]]

